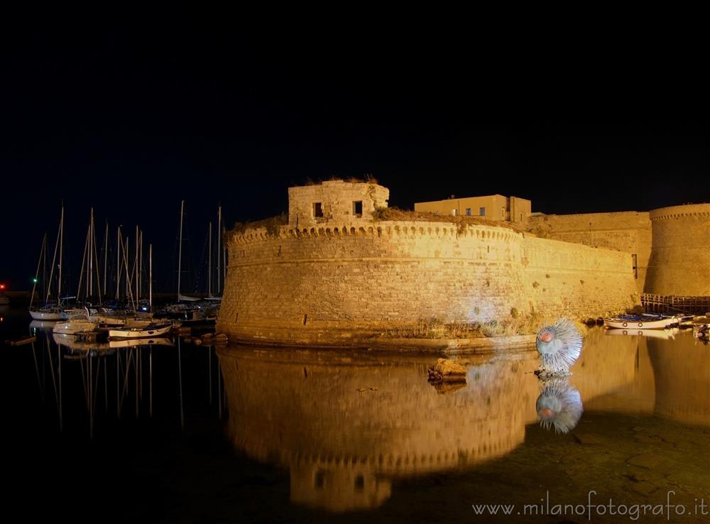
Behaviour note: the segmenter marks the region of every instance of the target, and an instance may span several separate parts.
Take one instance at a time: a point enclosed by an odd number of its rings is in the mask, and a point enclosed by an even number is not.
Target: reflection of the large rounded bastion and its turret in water
[[[425,360],[219,352],[236,447],[288,466],[293,501],[332,510],[378,506],[393,476],[475,464],[523,442],[538,393],[525,374],[531,357],[471,366],[466,388],[442,395]]]

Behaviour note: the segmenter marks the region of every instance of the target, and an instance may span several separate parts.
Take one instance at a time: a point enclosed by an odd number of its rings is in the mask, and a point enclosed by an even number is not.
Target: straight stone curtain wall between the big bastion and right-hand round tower
[[[651,254],[648,212],[543,214],[528,219],[530,230],[547,239],[603,247],[636,255],[636,290],[643,293]]]

